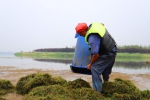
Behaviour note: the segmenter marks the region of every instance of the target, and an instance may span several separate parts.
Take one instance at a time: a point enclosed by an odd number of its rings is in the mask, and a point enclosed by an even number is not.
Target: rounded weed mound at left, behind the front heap
[[[16,85],[16,91],[18,94],[27,94],[30,90],[37,86],[48,86],[53,84],[63,85],[67,81],[60,76],[52,77],[50,74],[30,74],[19,79]]]

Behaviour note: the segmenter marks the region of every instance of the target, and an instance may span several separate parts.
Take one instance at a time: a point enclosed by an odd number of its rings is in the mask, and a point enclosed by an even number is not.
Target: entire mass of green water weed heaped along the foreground
[[[1,91],[4,91],[2,93]],[[13,91],[10,91],[13,90]],[[35,73],[20,78],[16,89],[10,81],[0,80],[0,100],[6,100],[7,93],[18,93],[23,100],[148,100],[149,90],[139,90],[129,80],[116,78],[113,82],[104,82],[102,93],[92,89],[85,80],[78,78],[66,81],[60,76],[48,73]]]

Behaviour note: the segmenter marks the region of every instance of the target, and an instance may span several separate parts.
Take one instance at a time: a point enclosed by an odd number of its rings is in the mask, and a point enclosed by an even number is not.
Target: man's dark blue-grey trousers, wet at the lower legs
[[[98,60],[92,64],[92,86],[93,89],[100,93],[102,91],[102,79],[100,75],[102,75],[104,82],[109,80],[115,58],[116,53],[110,52],[107,55],[100,55]]]

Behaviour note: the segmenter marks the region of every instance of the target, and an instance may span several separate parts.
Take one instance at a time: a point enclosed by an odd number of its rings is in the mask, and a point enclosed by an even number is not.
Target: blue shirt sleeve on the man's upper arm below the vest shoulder
[[[100,49],[101,38],[98,34],[91,34],[88,38],[92,54],[98,54]]]

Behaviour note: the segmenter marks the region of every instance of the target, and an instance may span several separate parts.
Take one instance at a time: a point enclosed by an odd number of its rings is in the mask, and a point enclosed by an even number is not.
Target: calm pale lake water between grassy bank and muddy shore
[[[32,59],[15,57],[13,53],[0,52],[0,66],[13,66],[18,69],[42,69],[42,70],[70,70],[72,61]],[[127,74],[147,74],[150,73],[150,65],[143,62],[115,62],[113,72]]]

